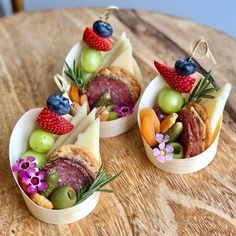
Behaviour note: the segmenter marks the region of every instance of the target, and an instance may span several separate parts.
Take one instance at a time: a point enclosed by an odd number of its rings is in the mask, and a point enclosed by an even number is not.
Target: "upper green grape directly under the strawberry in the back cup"
[[[92,48],[85,47],[82,50],[81,66],[87,72],[95,72],[99,69],[102,62],[102,53]]]

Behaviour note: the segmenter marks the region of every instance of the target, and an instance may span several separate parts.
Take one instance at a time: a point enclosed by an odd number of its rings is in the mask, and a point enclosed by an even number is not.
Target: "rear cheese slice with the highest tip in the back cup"
[[[114,44],[113,48],[109,52],[104,54],[100,69],[109,67],[112,64],[112,62],[128,46],[131,46],[130,40],[126,37],[125,33],[122,33],[121,36],[116,41],[116,43]]]

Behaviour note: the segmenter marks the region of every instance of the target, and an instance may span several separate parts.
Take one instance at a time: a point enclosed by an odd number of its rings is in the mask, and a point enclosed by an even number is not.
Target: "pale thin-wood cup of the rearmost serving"
[[[74,59],[76,59],[76,62],[79,62],[81,49],[83,48],[84,43],[79,42],[75,44],[71,50],[69,51],[68,55],[66,56],[65,61],[68,63],[69,66],[73,65]],[[143,91],[143,81],[142,81],[142,75],[140,72],[140,69],[136,63],[136,61],[133,59],[133,69],[134,69],[134,75],[137,77],[139,84],[141,86],[141,90]],[[66,75],[64,73],[65,66],[62,70],[62,76],[66,78]],[[71,81],[68,82],[71,83]],[[141,97],[141,95],[140,95]],[[127,132],[129,129],[131,129],[134,124],[137,121],[137,111],[138,111],[138,104],[139,104],[140,98],[135,104],[134,112],[132,115],[129,115],[127,117],[119,118],[113,121],[102,121],[100,125],[100,137],[107,138],[107,137],[115,137],[120,134],[123,134]]]

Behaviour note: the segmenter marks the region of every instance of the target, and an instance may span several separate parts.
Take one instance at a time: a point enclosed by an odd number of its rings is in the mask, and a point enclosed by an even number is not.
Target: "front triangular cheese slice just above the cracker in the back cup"
[[[128,45],[123,50],[123,52],[112,62],[111,66],[120,66],[128,70],[130,73],[134,73],[131,45]]]

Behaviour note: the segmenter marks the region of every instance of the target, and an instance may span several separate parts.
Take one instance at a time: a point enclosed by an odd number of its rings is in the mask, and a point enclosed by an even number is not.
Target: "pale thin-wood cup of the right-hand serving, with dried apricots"
[[[166,82],[161,77],[157,76],[146,87],[138,108],[139,129],[140,129],[140,117],[139,117],[140,111],[146,107],[151,107],[151,108],[154,107],[157,94],[164,86],[167,86]],[[210,162],[215,157],[221,126],[222,126],[222,119],[218,125],[218,129],[216,131],[213,143],[204,152],[191,158],[173,159],[165,163],[160,163],[155,158],[155,156],[152,154],[152,148],[146,143],[145,139],[143,138],[143,144],[147,157],[149,158],[149,160],[152,162],[153,165],[169,173],[187,174],[199,171],[204,167],[206,167],[207,165],[209,165]]]

